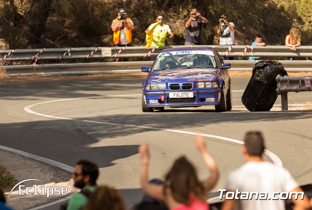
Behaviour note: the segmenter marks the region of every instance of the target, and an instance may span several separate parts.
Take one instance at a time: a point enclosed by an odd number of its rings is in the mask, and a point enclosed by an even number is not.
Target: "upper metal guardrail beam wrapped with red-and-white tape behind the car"
[[[221,56],[224,56],[229,50],[226,45],[196,45],[202,47],[214,47]],[[228,52],[231,57],[251,56],[251,46],[233,45]],[[68,60],[68,59],[107,59],[117,54],[116,58],[143,58],[149,54],[149,57],[156,55],[163,49],[185,47],[185,45],[170,45],[146,48],[144,46],[134,47],[77,47],[77,48],[48,48],[44,49],[16,49],[0,50],[0,56],[4,60],[10,61],[30,61],[38,56],[40,60]],[[288,46],[253,46],[253,56],[260,57],[312,57],[312,46],[299,46],[296,51],[290,50]],[[245,51],[246,50],[246,51]],[[42,51],[42,52],[41,52]],[[152,52],[153,51],[153,52]],[[118,53],[119,52],[119,53]],[[244,53],[245,52],[245,53]],[[6,55],[8,55],[4,58]]]

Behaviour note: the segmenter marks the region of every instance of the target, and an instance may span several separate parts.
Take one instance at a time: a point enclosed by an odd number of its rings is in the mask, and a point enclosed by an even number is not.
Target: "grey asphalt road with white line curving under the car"
[[[214,106],[208,106],[143,113],[143,80],[1,84],[0,145],[71,167],[81,158],[95,161],[100,167],[98,184],[119,189],[131,205],[141,199],[137,147],[143,141],[151,149],[150,178],[162,178],[180,155],[186,155],[204,178],[208,170],[193,145],[192,133],[206,135],[221,172],[213,190],[218,191],[229,172],[244,163],[235,140],[241,141],[246,131],[260,130],[270,154],[277,156],[274,162],[290,170],[300,185],[312,183],[311,110],[284,112],[276,107],[270,112],[249,112],[240,101],[249,77],[232,77],[232,111],[216,113]],[[289,93],[289,104],[311,102],[311,92]],[[280,98],[275,104],[280,104]],[[265,159],[273,161],[267,155]],[[25,174],[27,178],[33,177]]]

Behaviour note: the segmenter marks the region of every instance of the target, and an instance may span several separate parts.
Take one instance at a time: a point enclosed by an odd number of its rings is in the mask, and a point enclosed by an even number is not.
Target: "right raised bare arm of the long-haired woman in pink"
[[[195,143],[197,150],[202,155],[207,168],[210,170],[210,176],[206,180],[203,181],[205,190],[208,192],[209,190],[215,187],[215,184],[219,178],[219,170],[215,163],[214,158],[210,155],[210,153],[208,152],[206,148],[204,137],[196,134],[194,143]]]

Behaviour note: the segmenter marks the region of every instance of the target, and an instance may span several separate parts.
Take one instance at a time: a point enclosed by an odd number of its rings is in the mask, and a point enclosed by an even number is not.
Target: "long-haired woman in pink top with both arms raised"
[[[206,149],[205,140],[202,136],[195,136],[195,146],[202,155],[210,176],[200,182],[194,166],[181,156],[173,164],[165,176],[164,184],[153,185],[148,182],[148,164],[150,152],[147,143],[139,147],[141,154],[140,181],[143,191],[157,201],[167,203],[169,209],[195,209],[208,210],[206,203],[207,193],[211,190],[218,179],[218,168],[213,157]]]

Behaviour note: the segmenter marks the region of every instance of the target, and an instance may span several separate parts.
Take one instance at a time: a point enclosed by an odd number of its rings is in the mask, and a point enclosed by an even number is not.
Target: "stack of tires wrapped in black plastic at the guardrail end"
[[[249,111],[270,111],[277,99],[276,76],[287,75],[282,63],[276,61],[259,61],[254,64],[242,103]]]

